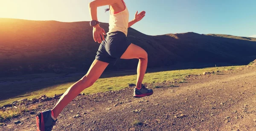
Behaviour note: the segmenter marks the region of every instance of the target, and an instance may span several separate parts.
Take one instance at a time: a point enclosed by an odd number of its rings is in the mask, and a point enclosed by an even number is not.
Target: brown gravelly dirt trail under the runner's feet
[[[256,131],[256,68],[219,74],[192,75],[175,87],[166,82],[144,98],[132,98],[132,88],[78,96],[53,131]],[[41,103],[35,112],[56,102]],[[35,131],[35,114],[29,113],[0,130]]]

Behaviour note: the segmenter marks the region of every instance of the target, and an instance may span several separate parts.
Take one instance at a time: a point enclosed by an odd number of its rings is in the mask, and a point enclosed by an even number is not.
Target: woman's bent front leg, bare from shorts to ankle
[[[125,53],[121,56],[121,59],[139,59],[137,67],[137,84],[136,88],[141,89],[141,84],[148,65],[148,54],[147,52],[134,44],[131,44]]]

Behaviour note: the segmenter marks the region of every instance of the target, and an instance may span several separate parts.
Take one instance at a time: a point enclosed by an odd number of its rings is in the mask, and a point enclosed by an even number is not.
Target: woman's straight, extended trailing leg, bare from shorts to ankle
[[[58,100],[58,103],[52,109],[54,117],[57,118],[61,111],[67,104],[71,102],[77,95],[79,95],[84,89],[93,85],[95,81],[102,75],[102,72],[106,69],[108,63],[94,60],[87,74],[84,75],[79,81],[70,86],[67,91]]]

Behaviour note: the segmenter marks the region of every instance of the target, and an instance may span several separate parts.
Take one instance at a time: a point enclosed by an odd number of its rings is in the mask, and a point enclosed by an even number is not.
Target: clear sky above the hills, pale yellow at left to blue
[[[93,0],[0,0],[0,17],[90,21],[90,1]],[[256,37],[256,0],[125,0],[125,3],[130,20],[137,10],[146,11],[144,19],[132,28],[148,35],[196,32]],[[105,8],[98,8],[100,22],[108,22]]]

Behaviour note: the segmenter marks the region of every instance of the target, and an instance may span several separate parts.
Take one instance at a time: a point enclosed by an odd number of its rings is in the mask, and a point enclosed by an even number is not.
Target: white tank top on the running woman
[[[124,3],[123,0],[122,2]],[[110,11],[108,33],[121,31],[125,33],[125,35],[127,36],[128,22],[129,22],[129,12],[126,5],[125,5],[125,10],[118,12],[116,14],[111,14],[111,11]]]

